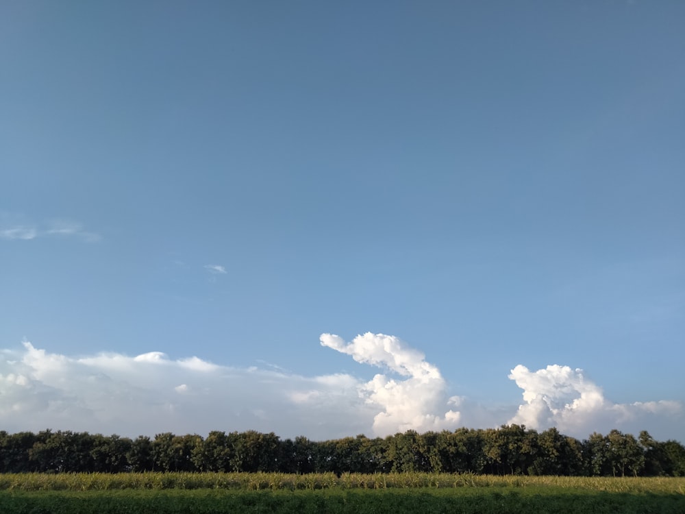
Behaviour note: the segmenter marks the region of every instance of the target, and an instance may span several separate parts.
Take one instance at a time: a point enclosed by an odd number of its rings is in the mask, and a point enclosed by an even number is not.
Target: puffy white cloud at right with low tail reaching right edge
[[[672,422],[682,418],[680,402],[611,402],[601,387],[584,376],[582,369],[550,365],[530,371],[518,365],[509,378],[523,389],[524,401],[509,422],[525,424],[528,428],[555,426],[569,435],[588,435],[612,428],[637,432],[645,428],[649,417],[670,418]]]

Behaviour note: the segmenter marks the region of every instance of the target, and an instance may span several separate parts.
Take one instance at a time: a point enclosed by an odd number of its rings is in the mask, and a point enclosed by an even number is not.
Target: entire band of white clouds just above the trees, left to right
[[[382,373],[369,381],[342,373],[300,376],[197,356],[172,360],[162,352],[76,358],[25,342],[0,351],[0,421],[10,432],[52,428],[132,437],[254,429],[334,439],[518,423],[556,426],[578,438],[618,428],[684,439],[680,402],[614,404],[580,369],[517,365],[509,378],[523,389],[523,403],[495,409],[450,396],[438,367],[395,336],[368,332],[346,343],[322,334],[321,345]]]

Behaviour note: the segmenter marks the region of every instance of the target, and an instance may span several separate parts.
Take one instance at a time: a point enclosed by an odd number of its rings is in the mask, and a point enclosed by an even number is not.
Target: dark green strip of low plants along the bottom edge
[[[319,489],[0,491],[3,514],[682,514],[678,493],[530,487],[491,489]]]

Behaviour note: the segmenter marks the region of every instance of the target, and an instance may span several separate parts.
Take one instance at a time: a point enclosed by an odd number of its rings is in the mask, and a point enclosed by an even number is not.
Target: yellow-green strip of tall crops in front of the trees
[[[258,491],[318,489],[453,489],[556,487],[610,493],[669,493],[685,496],[685,478],[493,476],[447,473],[74,473],[0,474],[0,491],[114,491],[119,489],[229,489]]]

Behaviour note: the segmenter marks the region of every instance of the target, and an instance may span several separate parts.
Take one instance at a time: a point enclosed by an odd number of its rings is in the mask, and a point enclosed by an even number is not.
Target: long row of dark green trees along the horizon
[[[611,430],[582,441],[521,425],[414,430],[385,438],[280,439],[273,432],[210,432],[136,439],[43,430],[0,431],[0,472],[441,472],[565,476],[685,476],[685,447]]]

